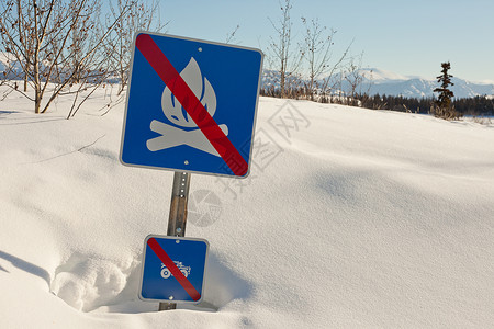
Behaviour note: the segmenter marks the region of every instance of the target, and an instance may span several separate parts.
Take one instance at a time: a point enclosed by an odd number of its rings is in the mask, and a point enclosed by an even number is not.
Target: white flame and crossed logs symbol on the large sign
[[[182,77],[198,100],[200,100],[204,109],[213,116],[216,112],[216,94],[207,78],[202,76],[199,65],[193,57],[191,57],[189,64],[180,72],[180,77]],[[181,129],[154,120],[150,123],[150,129],[161,136],[147,140],[146,145],[150,151],[188,145],[220,157],[220,154],[214,149],[201,129],[198,128],[197,123],[189,116],[182,104],[171,93],[168,86],[162,91],[161,109],[165,116],[175,125],[194,129]],[[228,135],[228,127],[226,125],[220,125],[220,128],[225,135]]]

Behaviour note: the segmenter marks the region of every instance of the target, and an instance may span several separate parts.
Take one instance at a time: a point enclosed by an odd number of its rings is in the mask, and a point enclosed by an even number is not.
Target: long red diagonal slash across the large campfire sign
[[[180,73],[175,69],[153,37],[149,34],[139,34],[135,45],[234,174],[245,175],[248,169],[247,161],[226,137],[207,110],[204,109],[201,101],[198,100],[187,82],[183,81]]]

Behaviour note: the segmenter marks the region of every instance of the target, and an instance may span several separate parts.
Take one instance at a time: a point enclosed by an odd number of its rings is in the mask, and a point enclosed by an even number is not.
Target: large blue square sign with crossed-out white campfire
[[[134,45],[122,163],[246,177],[262,53],[147,32]]]

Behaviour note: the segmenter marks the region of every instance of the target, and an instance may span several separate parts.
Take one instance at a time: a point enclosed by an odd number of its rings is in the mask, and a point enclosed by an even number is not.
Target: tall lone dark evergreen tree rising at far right
[[[439,92],[439,98],[434,107],[434,114],[437,117],[446,120],[458,118],[459,115],[451,103],[451,98],[454,97],[454,93],[449,89],[450,86],[454,86],[454,83],[451,82],[452,76],[448,73],[448,70],[451,69],[451,64],[449,61],[442,63],[441,67],[442,75],[436,77],[437,82],[440,82],[441,87],[434,90],[434,92]]]

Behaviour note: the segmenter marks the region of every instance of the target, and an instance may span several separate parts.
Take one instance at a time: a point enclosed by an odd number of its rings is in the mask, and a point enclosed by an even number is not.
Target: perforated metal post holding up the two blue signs
[[[168,217],[168,236],[186,236],[187,203],[189,201],[190,173],[175,172],[171,188],[170,215]],[[176,309],[176,303],[159,303],[159,310]]]

